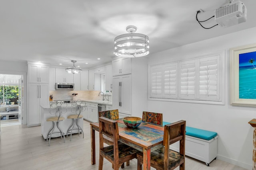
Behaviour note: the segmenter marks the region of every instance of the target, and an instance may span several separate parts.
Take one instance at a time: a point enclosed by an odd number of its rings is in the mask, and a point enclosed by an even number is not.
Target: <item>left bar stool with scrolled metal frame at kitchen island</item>
[[[60,117],[63,113],[63,111],[62,111],[63,108],[62,108],[61,104],[60,104],[60,106],[58,106],[57,104],[51,104],[50,107],[52,108],[50,110],[50,114],[55,114],[55,117],[50,117],[46,120],[46,121],[52,122],[52,128],[49,130],[48,135],[46,137],[46,141],[48,141],[48,138],[49,138],[49,147],[50,147],[50,142],[51,142],[53,133],[60,133],[60,138],[62,139],[62,136],[63,136],[64,143],[65,143],[65,135],[59,126],[60,121],[63,121],[65,119],[64,117]],[[64,111],[64,113],[66,113],[66,111]],[[57,128],[59,129],[59,132],[58,131],[54,132],[56,125],[57,125]]]

